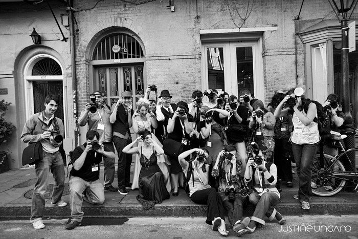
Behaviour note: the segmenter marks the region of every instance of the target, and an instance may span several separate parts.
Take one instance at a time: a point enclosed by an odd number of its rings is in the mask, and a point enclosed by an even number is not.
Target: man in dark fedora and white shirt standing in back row
[[[163,138],[167,135],[167,126],[170,115],[174,113],[176,104],[170,103],[172,96],[168,90],[163,90],[159,96],[158,105],[156,106],[156,120],[158,127],[156,127],[155,136],[163,144]]]

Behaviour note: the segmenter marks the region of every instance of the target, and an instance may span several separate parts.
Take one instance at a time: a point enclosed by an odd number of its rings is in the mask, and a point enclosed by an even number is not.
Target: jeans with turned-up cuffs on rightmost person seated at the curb
[[[275,192],[264,192],[261,196],[255,191],[252,192],[249,195],[249,201],[256,207],[251,221],[265,225],[264,216],[267,216],[272,221],[277,212],[274,206],[278,203],[279,199]]]

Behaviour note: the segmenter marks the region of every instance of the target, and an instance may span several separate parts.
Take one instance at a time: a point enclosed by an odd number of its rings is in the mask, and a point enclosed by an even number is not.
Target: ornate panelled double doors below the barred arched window
[[[113,66],[95,69],[94,89],[106,104],[115,104],[123,91],[130,91],[133,102],[144,96],[143,66]]]

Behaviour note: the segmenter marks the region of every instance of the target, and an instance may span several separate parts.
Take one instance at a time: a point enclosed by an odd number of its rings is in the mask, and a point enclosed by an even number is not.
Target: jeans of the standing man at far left
[[[30,220],[42,218],[45,205],[44,193],[47,189],[50,170],[55,179],[51,202],[57,203],[61,200],[65,179],[62,156],[59,151],[51,154],[43,150],[42,160],[35,164],[37,182],[35,184],[34,193],[32,194]]]

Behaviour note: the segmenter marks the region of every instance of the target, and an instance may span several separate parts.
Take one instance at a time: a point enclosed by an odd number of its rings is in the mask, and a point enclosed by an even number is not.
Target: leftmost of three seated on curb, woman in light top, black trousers
[[[185,158],[191,154],[193,154],[191,160],[187,162]],[[206,223],[212,225],[214,231],[219,231],[221,235],[227,236],[228,231],[225,227],[225,215],[220,194],[208,184],[209,165],[206,163],[208,157],[209,153],[205,148],[193,148],[179,155],[178,160],[185,176],[187,177],[187,173],[191,175],[188,182],[190,199],[194,203],[208,205]]]

